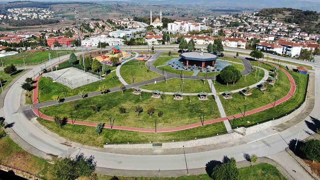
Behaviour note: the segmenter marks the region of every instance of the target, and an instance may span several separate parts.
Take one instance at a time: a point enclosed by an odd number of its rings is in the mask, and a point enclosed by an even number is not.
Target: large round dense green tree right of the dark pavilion
[[[231,83],[233,84],[241,78],[241,72],[236,69],[234,66],[226,66],[220,71],[220,78],[223,80],[224,83]]]

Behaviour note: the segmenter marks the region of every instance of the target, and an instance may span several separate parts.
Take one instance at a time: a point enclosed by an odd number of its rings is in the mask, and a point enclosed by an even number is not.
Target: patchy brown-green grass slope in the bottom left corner
[[[50,164],[20,148],[9,136],[0,138],[0,164],[51,179]]]

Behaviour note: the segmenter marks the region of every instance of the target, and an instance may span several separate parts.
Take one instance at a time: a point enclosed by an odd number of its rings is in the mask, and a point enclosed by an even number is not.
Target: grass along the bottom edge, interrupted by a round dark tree
[[[273,165],[261,163],[254,166],[239,168],[240,180],[286,180],[280,171]],[[113,176],[99,174],[99,179],[111,179]],[[129,177],[118,176],[119,180],[150,180],[150,177]],[[157,179],[153,177],[151,179]],[[162,180],[210,180],[207,174],[179,176],[179,177],[160,177]]]

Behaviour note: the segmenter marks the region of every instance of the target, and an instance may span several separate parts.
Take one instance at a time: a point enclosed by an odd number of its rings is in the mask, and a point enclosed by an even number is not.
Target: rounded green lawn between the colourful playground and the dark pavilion
[[[133,83],[132,75],[134,78],[134,83],[145,81],[148,79],[154,79],[161,76],[156,72],[148,70],[144,63],[146,62],[143,62],[142,64],[139,65],[139,61],[133,61],[133,60],[126,62],[120,68],[121,77],[125,80],[125,82],[127,82],[128,84],[131,84]]]

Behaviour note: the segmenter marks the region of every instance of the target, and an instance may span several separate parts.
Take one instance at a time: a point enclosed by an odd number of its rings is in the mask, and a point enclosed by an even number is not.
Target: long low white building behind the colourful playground
[[[109,46],[123,45],[123,39],[107,37],[106,35],[87,37],[81,41],[81,45],[85,47],[98,46],[99,42],[108,43]]]

